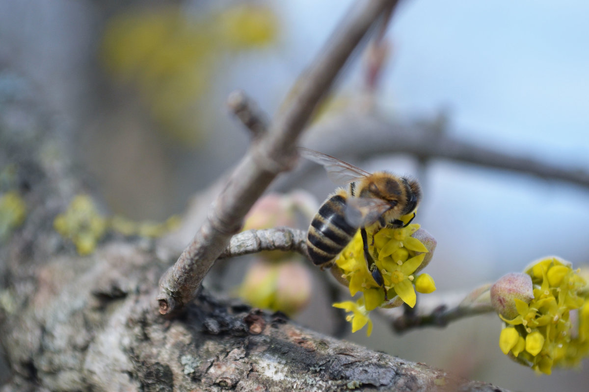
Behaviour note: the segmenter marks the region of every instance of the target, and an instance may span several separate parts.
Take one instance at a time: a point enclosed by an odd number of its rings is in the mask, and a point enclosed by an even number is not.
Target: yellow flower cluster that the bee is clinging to
[[[410,219],[404,216],[402,219]],[[429,274],[415,276],[425,267],[423,260],[428,253],[427,247],[412,234],[419,225],[408,225],[399,229],[383,228],[367,229],[369,252],[373,255],[376,267],[382,273],[384,290],[372,277],[363,252],[360,233],[346,246],[335,260],[342,280],[348,282],[350,295],[362,293],[357,301],[345,301],[333,304],[334,307],[352,312],[348,321],[352,323],[352,332],[362,329],[368,324],[368,335],[372,331],[372,322],[368,317],[370,310],[377,307],[395,307],[406,303],[413,307],[416,303],[415,290],[420,293],[431,293],[436,289],[434,280]],[[373,243],[373,244],[372,244]],[[385,290],[389,300],[385,300]]]

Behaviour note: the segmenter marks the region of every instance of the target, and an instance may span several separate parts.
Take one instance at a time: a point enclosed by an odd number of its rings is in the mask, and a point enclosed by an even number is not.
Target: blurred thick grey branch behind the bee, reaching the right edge
[[[464,142],[448,135],[443,127],[441,130],[438,122],[393,121],[374,113],[348,110],[310,127],[303,145],[337,157],[406,153],[425,161],[446,159],[589,187],[589,172],[580,167],[560,167]],[[311,167],[306,166],[306,170],[294,173],[276,187],[282,189],[286,182],[289,188],[296,186],[306,178]]]

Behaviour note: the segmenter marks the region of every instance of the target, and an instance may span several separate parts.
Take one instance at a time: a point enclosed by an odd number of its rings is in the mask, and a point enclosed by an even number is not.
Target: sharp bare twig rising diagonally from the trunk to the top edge
[[[253,143],[217,197],[194,239],[160,279],[161,314],[174,313],[194,298],[204,276],[237,233],[243,217],[270,182],[296,160],[297,139],[340,69],[391,0],[359,2],[362,8],[346,19],[307,72],[294,83],[270,129]]]

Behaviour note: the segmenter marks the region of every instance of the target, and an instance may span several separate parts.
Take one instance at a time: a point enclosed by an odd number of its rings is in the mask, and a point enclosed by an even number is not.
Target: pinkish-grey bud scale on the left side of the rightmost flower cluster
[[[506,319],[517,317],[516,299],[525,303],[534,299],[530,275],[521,272],[508,273],[491,286],[491,304]]]

